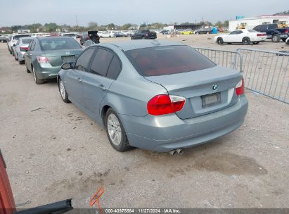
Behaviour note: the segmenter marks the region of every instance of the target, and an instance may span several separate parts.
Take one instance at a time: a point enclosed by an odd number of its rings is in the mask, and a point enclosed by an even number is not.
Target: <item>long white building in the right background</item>
[[[252,29],[257,25],[273,24],[287,25],[289,27],[289,15],[259,15],[255,18],[239,18],[229,22],[229,31],[236,29]]]

